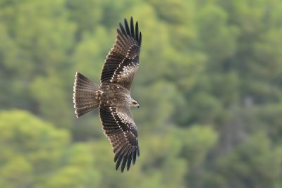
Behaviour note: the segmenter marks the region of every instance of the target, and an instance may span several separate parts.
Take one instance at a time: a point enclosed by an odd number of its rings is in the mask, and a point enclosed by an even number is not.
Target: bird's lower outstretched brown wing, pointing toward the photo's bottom
[[[140,156],[137,128],[133,121],[129,107],[100,106],[99,114],[104,129],[104,134],[111,142],[114,149],[114,162],[116,170],[121,165],[123,172],[125,165],[129,170],[131,162],[136,161],[136,155]]]

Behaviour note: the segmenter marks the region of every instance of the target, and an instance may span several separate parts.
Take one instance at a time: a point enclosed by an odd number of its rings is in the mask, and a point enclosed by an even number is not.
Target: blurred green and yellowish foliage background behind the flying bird
[[[130,16],[140,158],[122,174],[72,97]],[[0,0],[0,77],[0,187],[282,187],[279,0]]]

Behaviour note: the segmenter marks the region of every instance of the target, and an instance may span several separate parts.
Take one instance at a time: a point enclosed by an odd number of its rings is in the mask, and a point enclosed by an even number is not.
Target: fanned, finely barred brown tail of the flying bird
[[[73,103],[76,117],[79,118],[81,115],[97,108],[100,104],[101,94],[102,91],[99,90],[99,85],[76,72],[73,87]]]

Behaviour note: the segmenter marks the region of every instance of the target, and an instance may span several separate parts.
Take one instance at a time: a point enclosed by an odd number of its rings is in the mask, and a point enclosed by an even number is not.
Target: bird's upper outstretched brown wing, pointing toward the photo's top
[[[124,19],[124,27],[121,23],[119,25],[121,30],[117,30],[116,42],[106,56],[101,83],[117,83],[130,90],[139,66],[142,35],[137,22],[134,27],[132,17],[130,26],[126,19]]]

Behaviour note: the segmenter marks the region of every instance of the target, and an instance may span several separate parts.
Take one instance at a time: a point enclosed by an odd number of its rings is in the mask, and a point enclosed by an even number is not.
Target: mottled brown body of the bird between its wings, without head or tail
[[[105,83],[101,86],[101,105],[104,106],[130,106],[130,92],[120,84]]]

